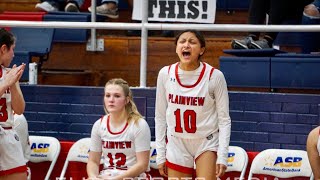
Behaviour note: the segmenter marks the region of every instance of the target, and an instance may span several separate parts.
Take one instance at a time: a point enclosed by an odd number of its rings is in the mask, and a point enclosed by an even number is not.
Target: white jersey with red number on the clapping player
[[[0,82],[4,81],[6,76],[6,68],[1,66],[0,69]],[[11,107],[11,92],[8,88],[0,99],[0,126],[12,127],[14,125],[13,112]]]

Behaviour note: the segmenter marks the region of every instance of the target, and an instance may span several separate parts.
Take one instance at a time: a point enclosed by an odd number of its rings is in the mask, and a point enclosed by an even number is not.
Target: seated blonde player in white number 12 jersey
[[[149,170],[150,128],[142,119],[123,79],[111,79],[104,89],[105,116],[91,132],[89,179],[146,177]],[[104,170],[99,174],[101,155]]]

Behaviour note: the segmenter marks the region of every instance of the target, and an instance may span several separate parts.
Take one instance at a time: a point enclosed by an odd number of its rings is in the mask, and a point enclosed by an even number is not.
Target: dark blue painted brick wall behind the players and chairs
[[[27,102],[30,135],[76,141],[89,137],[103,114],[103,87],[21,86]],[[155,88],[132,89],[154,139]],[[305,149],[307,134],[318,126],[320,95],[259,92],[229,93],[231,145],[247,151]]]

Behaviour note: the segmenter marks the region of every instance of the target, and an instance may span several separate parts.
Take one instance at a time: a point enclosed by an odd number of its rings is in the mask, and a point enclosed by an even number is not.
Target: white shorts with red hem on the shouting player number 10
[[[166,165],[168,168],[192,174],[196,159],[206,151],[218,150],[219,134],[214,133],[201,139],[183,139],[168,135]]]

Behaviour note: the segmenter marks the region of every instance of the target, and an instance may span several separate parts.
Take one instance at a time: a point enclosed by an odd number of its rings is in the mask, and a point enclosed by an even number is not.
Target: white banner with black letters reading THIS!
[[[141,20],[142,3],[148,1],[148,20],[214,23],[216,0],[134,0],[132,19]]]

